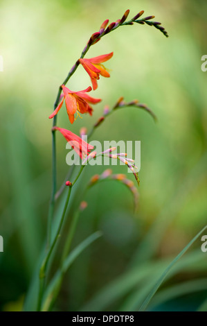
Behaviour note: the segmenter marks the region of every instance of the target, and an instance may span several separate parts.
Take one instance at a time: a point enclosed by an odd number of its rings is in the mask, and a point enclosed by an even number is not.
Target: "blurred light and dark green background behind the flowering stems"
[[[170,35],[167,39],[155,28],[137,24],[103,37],[87,54],[91,58],[114,51],[106,64],[111,78],[100,78],[94,93],[102,103],[94,107],[92,118],[85,115],[73,126],[62,108],[57,123],[77,134],[82,126],[89,130],[104,105],[114,105],[120,96],[126,101],[137,98],[158,117],[154,123],[143,110],[125,108],[93,135],[100,141],[141,140],[139,207],[134,216],[131,194],[116,182],[96,185],[88,192],[83,198],[88,207],[80,216],[73,246],[96,230],[103,236],[71,266],[55,305],[56,310],[71,311],[136,310],[168,262],[206,225],[207,72],[201,71],[201,56],[207,54],[207,2],[0,3],[1,310],[21,309],[46,236],[51,194],[48,115],[57,88],[90,35],[105,19],[114,22],[128,8],[129,18],[140,10],[145,16],[155,15]],[[68,87],[80,90],[89,85],[89,76],[78,67]],[[59,186],[68,170],[65,145],[57,135]],[[114,173],[127,172],[125,166],[112,168]],[[72,206],[91,175],[103,169],[85,169]],[[199,249],[200,239],[196,245],[197,253],[192,250],[186,260],[183,257],[183,265],[161,286],[149,309],[199,309],[207,294],[207,253]],[[62,246],[57,250],[61,253]],[[145,277],[138,282],[141,271]]]

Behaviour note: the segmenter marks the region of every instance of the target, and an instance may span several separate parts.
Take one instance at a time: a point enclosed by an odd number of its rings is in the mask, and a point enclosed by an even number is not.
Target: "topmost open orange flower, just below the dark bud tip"
[[[102,65],[102,62],[111,59],[113,54],[114,52],[111,52],[109,54],[99,55],[98,57],[91,59],[79,59],[80,64],[82,65],[82,67],[84,67],[84,69],[91,77],[93,90],[98,87],[97,80],[100,78],[100,75],[104,77],[110,77],[109,72],[104,67],[104,65]]]

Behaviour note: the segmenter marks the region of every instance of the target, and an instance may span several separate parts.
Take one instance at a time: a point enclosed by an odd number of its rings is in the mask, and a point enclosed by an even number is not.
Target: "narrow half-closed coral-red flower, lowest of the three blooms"
[[[89,145],[86,141],[73,134],[70,130],[59,127],[53,127],[53,130],[59,130],[62,133],[66,141],[69,141],[69,144],[72,146],[74,151],[80,156],[81,160],[83,157],[89,155],[90,151],[93,149],[92,145]]]

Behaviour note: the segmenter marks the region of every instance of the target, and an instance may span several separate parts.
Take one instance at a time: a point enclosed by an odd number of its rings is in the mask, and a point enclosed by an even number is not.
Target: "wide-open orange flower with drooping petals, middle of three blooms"
[[[91,92],[91,87],[88,87],[87,89],[84,89],[80,92],[73,92],[69,88],[65,87],[62,85],[62,90],[63,90],[63,97],[62,101],[57,105],[57,108],[53,111],[53,113],[50,115],[49,119],[52,119],[55,114],[62,108],[62,104],[65,100],[66,104],[66,110],[69,115],[69,120],[71,123],[74,122],[76,118],[74,118],[75,112],[78,113],[80,116],[80,113],[89,113],[92,115],[93,109],[89,105],[89,103],[98,103],[101,101],[100,98],[93,98],[86,94],[87,92]]]

